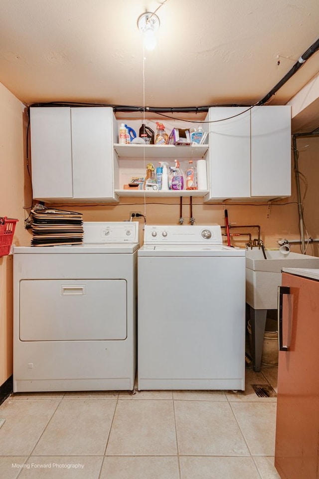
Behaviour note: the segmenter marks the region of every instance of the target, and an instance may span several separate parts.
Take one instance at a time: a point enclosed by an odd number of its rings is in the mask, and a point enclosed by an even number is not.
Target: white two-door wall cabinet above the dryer
[[[108,107],[30,108],[33,198],[114,201]]]

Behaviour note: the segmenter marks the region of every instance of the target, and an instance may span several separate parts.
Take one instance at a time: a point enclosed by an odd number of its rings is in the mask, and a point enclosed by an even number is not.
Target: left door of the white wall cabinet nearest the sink
[[[246,110],[209,110],[209,119],[214,121],[209,129],[211,198],[250,197],[250,111]]]

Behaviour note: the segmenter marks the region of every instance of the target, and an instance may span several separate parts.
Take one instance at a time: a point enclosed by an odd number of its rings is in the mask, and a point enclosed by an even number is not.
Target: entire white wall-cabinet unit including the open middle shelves
[[[167,132],[180,126],[175,120],[166,123]],[[141,124],[130,121],[137,132]],[[36,200],[107,203],[120,196],[201,196],[219,202],[291,195],[289,106],[211,107],[202,123],[208,144],[188,147],[119,145],[119,120],[110,107],[33,107],[30,125]],[[163,160],[171,166],[179,159],[185,170],[190,158],[206,160],[207,190],[126,188],[131,178],[145,175],[150,161],[155,167]]]

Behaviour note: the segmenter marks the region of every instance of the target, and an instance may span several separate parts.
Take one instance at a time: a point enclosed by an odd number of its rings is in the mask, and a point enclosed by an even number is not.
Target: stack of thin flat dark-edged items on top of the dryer
[[[83,218],[74,211],[55,210],[35,205],[32,213],[32,246],[81,244],[83,242]]]

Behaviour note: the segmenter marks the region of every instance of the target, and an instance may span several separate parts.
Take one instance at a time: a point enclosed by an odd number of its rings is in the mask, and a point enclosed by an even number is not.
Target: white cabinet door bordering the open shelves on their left
[[[71,108],[74,198],[113,198],[112,108]]]

